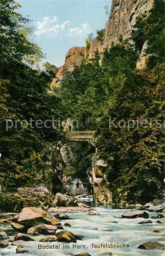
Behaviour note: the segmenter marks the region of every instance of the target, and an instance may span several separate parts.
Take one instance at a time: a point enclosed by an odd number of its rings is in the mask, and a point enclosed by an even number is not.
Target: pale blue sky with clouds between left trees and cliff
[[[33,41],[42,48],[46,60],[60,67],[66,52],[73,46],[84,46],[87,34],[103,29],[108,16],[104,6],[107,1],[58,1],[58,0],[18,0],[22,8],[19,12],[29,15],[35,27]]]

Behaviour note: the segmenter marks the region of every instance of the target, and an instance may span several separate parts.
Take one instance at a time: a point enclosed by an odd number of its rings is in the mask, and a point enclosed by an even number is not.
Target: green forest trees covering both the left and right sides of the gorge
[[[5,194],[20,186],[46,184],[55,194],[62,125],[37,120],[78,120],[79,131],[97,131],[98,155],[112,203],[162,198],[164,166],[164,1],[137,18],[130,40],[84,59],[50,89],[51,65],[40,68],[41,49],[31,42],[30,20],[14,0],[0,3],[0,184]],[[146,67],[136,62],[147,42]],[[90,120],[88,118],[90,117]],[[10,120],[10,121],[9,121]],[[23,121],[24,120],[24,121]],[[33,120],[33,125],[32,125]],[[42,123],[43,124],[43,123]],[[8,126],[7,126],[8,125]],[[39,125],[39,122],[38,122]],[[41,127],[42,126],[42,127]],[[8,129],[7,129],[8,127]],[[67,142],[73,157],[60,172],[86,181],[93,145]],[[58,167],[57,167],[58,166]],[[52,172],[53,170],[53,172]],[[58,176],[58,178],[60,178]],[[5,201],[3,201],[5,202]]]

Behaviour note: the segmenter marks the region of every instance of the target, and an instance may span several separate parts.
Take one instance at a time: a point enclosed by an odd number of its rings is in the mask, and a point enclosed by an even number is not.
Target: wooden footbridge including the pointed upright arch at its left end
[[[70,141],[95,141],[96,131],[73,131],[73,122],[70,118],[67,119],[65,125],[66,137]]]

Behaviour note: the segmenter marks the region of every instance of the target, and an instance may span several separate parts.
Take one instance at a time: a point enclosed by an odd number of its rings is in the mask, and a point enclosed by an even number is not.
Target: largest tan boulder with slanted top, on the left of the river
[[[56,225],[59,221],[40,207],[25,207],[19,214],[18,223],[25,227],[33,227],[39,224]]]

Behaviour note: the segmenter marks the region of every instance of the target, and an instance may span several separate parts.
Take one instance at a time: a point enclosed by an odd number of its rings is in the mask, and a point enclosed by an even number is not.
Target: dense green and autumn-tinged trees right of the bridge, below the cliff
[[[134,45],[112,44],[102,56],[96,53],[65,74],[58,92],[65,115],[78,120],[78,130],[97,130],[96,147],[108,164],[104,172],[116,204],[163,196],[163,9],[164,2],[156,0],[149,16],[137,19]],[[148,67],[137,71],[145,41]]]

